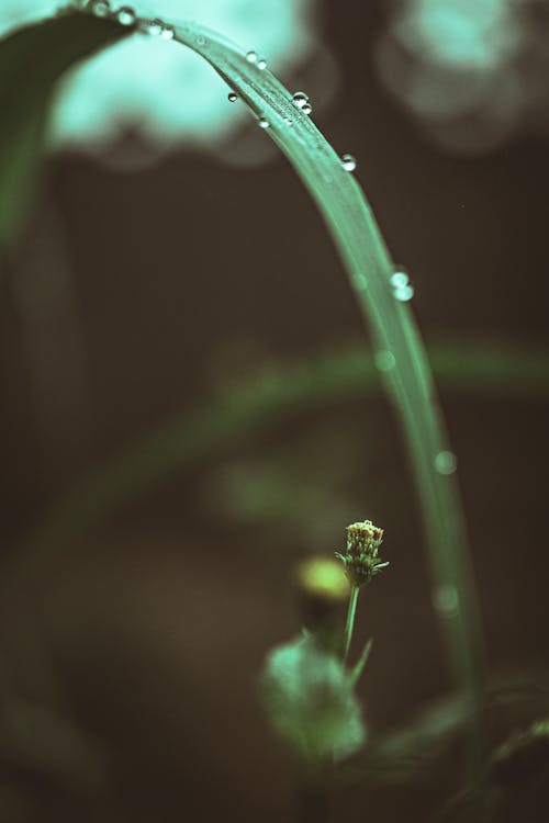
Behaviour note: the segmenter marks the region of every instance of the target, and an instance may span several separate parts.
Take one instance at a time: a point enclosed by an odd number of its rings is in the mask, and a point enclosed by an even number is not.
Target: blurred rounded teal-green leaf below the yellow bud
[[[341,759],[366,739],[360,707],[341,662],[305,634],[274,649],[260,680],[278,734],[306,762]]]

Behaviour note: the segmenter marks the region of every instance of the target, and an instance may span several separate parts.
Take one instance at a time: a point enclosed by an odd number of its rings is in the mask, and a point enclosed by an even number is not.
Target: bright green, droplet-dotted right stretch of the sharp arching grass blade
[[[145,26],[147,22],[144,21]],[[175,38],[206,59],[258,117],[290,160],[324,217],[367,319],[412,461],[434,577],[434,602],[453,675],[474,718],[472,758],[484,753],[484,672],[480,618],[455,459],[425,349],[410,308],[395,300],[395,272],[366,196],[292,94],[222,35],[194,23],[172,24]]]

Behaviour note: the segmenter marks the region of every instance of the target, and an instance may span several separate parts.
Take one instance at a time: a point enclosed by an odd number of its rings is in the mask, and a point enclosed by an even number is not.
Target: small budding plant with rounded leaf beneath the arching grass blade
[[[332,769],[357,752],[367,740],[355,687],[371,650],[369,640],[348,668],[360,588],[381,568],[378,557],[382,529],[370,520],[347,527],[341,566],[324,557],[301,564],[299,591],[305,620],[313,625],[267,656],[261,675],[262,702],[274,731],[293,751],[301,775],[303,820],[324,820]],[[347,600],[345,628],[338,606]]]

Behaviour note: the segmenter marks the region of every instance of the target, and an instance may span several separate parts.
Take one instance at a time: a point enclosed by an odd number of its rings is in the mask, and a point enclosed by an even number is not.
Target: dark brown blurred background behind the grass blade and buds
[[[549,343],[547,135],[528,121],[463,150],[434,139],[376,68],[393,13],[320,4],[339,84],[315,121],[358,158],[393,257],[412,273],[427,345],[524,352],[527,368]],[[267,139],[250,124],[234,143]],[[139,137],[121,140],[113,156]],[[283,383],[284,364],[363,340],[315,208],[277,155],[236,168],[183,146],[120,171],[60,153],[0,288],[0,528],[12,565],[18,552],[33,557],[2,594],[2,820],[290,820],[291,768],[255,678],[267,650],[299,629],[300,557],[330,555],[352,520],[385,529],[391,568],[368,589],[357,632],[376,641],[360,689],[372,734],[452,688],[381,392],[228,438],[43,556],[20,541],[90,471],[187,409],[264,372]],[[509,372],[508,392],[496,392],[468,383],[466,365],[440,386],[488,666],[495,679],[539,686],[547,376],[545,388],[516,391]],[[536,711],[507,710],[493,744]],[[334,819],[425,821],[456,788],[448,764],[435,785],[358,788]],[[547,820],[541,793],[508,789],[496,819]]]

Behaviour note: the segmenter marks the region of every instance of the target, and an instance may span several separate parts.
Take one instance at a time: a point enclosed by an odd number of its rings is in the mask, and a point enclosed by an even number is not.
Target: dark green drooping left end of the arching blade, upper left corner
[[[0,41],[0,257],[24,216],[57,80],[128,31],[112,20],[71,13]]]

